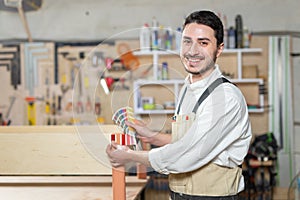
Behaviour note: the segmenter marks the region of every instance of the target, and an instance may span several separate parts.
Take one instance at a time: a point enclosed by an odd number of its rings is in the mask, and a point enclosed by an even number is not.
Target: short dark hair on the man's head
[[[191,13],[183,24],[183,30],[186,25],[190,23],[197,23],[209,26],[215,31],[215,37],[217,39],[217,46],[223,43],[224,30],[223,24],[220,18],[213,12],[203,10],[203,11],[195,11]]]

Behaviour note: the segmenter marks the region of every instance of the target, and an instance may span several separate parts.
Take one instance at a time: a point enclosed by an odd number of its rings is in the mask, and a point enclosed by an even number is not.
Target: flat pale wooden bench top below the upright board
[[[134,200],[147,180],[126,177],[126,199]],[[112,200],[111,176],[0,176],[3,199]]]

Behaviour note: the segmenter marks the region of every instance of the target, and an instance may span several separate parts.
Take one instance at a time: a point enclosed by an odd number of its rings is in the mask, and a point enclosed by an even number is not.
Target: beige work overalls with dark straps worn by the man
[[[201,102],[223,82],[229,82],[225,78],[219,78],[213,82],[199,98],[191,114],[179,115],[180,106],[186,93],[186,89],[179,102],[177,112],[172,123],[172,142],[179,140],[191,127],[196,112]],[[207,165],[191,172],[169,174],[169,186],[173,192],[196,196],[228,196],[238,193],[240,167],[229,168],[208,163]]]

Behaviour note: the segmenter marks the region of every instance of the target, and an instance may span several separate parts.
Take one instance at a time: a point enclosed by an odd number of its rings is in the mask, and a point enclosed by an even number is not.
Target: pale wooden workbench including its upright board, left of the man
[[[111,200],[105,148],[114,125],[0,127],[0,196],[22,200]],[[147,179],[126,176],[126,199]]]

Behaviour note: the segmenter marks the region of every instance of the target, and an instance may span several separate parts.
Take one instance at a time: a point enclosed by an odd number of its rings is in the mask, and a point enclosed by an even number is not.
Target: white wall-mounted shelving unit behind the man
[[[242,48],[242,49],[225,49],[223,54],[236,54],[237,60],[237,77],[234,79],[230,79],[233,83],[237,85],[240,84],[254,84],[253,87],[258,88],[259,93],[259,105],[257,108],[249,107],[249,112],[252,113],[261,113],[264,112],[264,94],[260,92],[260,87],[264,84],[263,79],[261,78],[243,78],[243,55],[250,53],[261,53],[261,48]],[[135,114],[173,114],[174,110],[165,110],[165,109],[156,109],[156,110],[144,110],[141,102],[141,87],[149,86],[149,87],[157,87],[160,86],[172,86],[174,92],[174,99],[172,99],[177,104],[177,96],[180,91],[180,86],[183,85],[183,80],[170,79],[170,80],[158,80],[158,68],[159,68],[159,58],[165,55],[178,55],[177,51],[136,51],[133,52],[136,56],[152,56],[153,62],[153,78],[151,80],[147,79],[139,79],[133,83],[134,89],[134,112]]]

